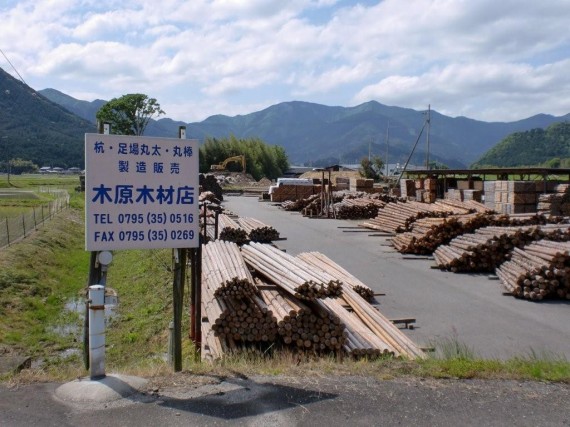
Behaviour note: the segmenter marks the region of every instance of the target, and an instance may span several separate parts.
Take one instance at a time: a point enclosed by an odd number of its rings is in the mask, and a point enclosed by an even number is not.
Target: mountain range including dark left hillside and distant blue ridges
[[[2,95],[6,90],[11,91],[12,97]],[[16,92],[21,92],[18,100]],[[35,92],[1,69],[0,95],[0,107],[3,111],[9,110],[9,114],[0,117],[0,136],[8,137],[16,147],[13,151],[41,154],[39,159],[36,155],[30,159],[44,165],[67,158],[62,153],[63,147],[67,147],[66,152],[78,155],[76,163],[83,165],[83,134],[95,130],[95,114],[106,101],[78,100],[55,89]],[[355,107],[292,101],[234,117],[214,115],[201,122],[152,120],[145,135],[176,137],[178,127],[184,125],[188,138],[201,141],[229,135],[258,137],[285,148],[290,163],[312,165],[358,163],[369,154],[384,160],[387,157],[390,163],[404,162],[418,142],[411,163],[423,165],[428,127],[424,128],[421,138],[419,134],[426,118],[425,111],[386,106],[376,101]],[[431,110],[429,158],[450,167],[466,167],[514,132],[545,128],[567,120],[570,114],[562,117],[539,114],[516,122],[483,122]],[[32,127],[35,131],[30,129]],[[15,130],[18,131],[14,133]],[[60,137],[55,137],[53,132],[61,134]],[[29,145],[40,145],[41,149],[32,149]]]

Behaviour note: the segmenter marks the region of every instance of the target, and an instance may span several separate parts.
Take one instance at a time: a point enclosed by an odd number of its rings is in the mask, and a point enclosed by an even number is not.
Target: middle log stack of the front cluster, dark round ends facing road
[[[257,284],[286,345],[318,353],[342,348],[346,339],[345,325],[337,315],[319,305],[309,307],[275,285],[261,281]]]

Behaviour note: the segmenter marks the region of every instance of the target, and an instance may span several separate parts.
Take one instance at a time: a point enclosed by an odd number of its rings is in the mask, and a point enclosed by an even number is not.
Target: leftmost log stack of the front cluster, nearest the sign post
[[[202,307],[211,329],[203,330],[210,349],[231,348],[240,341],[272,342],[276,338],[275,319],[258,295],[235,243],[215,241],[203,246]]]

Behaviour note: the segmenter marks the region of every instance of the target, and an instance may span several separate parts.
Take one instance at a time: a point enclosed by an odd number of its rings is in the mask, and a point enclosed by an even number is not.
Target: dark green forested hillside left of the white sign
[[[84,167],[86,132],[93,123],[48,100],[0,68],[0,161]]]

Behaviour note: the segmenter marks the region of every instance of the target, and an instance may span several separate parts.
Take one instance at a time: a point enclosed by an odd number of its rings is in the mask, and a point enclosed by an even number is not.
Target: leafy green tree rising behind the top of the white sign
[[[162,114],[165,113],[155,98],[130,93],[107,102],[97,111],[96,117],[101,122],[110,123],[114,134],[140,136],[150,119]]]

